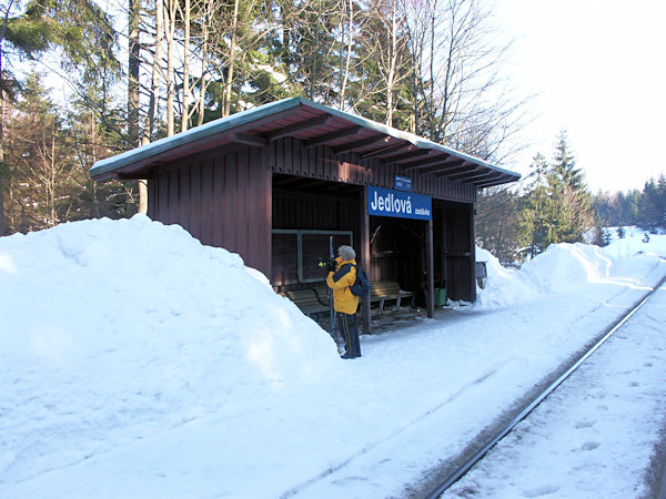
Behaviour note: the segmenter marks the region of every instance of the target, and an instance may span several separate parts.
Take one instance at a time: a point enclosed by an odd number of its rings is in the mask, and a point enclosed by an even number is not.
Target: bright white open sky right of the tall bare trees
[[[541,152],[551,159],[562,130],[593,192],[642,190],[666,173],[656,150],[666,115],[666,1],[497,0],[515,38],[511,79],[535,95],[531,145],[514,170]]]

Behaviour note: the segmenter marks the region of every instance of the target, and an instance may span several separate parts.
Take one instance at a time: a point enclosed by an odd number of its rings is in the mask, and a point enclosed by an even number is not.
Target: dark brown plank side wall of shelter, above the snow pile
[[[201,241],[239,253],[270,275],[271,172],[260,149],[213,151],[149,180],[149,216],[179,224]]]

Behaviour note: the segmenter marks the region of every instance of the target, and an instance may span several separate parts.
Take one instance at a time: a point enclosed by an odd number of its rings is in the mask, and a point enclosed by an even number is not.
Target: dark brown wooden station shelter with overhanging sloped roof
[[[148,215],[239,253],[278,292],[321,286],[329,243],[371,282],[476,298],[474,205],[517,173],[416,135],[286,99],[97,162],[97,181],[147,179]],[[364,301],[364,329],[371,330]]]

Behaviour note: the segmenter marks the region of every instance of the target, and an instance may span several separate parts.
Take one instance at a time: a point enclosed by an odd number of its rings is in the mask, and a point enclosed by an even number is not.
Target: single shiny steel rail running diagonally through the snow
[[[432,489],[431,492],[427,492],[424,496],[426,499],[435,499],[438,498],[446,489],[448,489],[453,483],[463,478],[474,465],[481,461],[484,456],[493,448],[500,440],[502,440],[506,435],[514,429],[514,427],[525,419],[548,395],[551,395],[566,378],[568,378],[572,373],[574,373],[585,360],[592,356],[606,340],[613,336],[634,314],[636,314],[650,298],[650,296],[659,289],[666,283],[666,276],[662,278],[662,281],[652,288],[643,299],[638,301],[629,312],[627,312],[623,317],[620,317],[615,323],[610,324],[605,329],[605,334],[592,348],[589,348],[573,366],[571,366],[559,378],[557,378],[554,383],[552,383],[544,391],[542,391],[532,403],[529,403],[512,421],[506,425],[498,434],[491,439],[478,450],[471,459],[465,461],[453,475],[451,475],[445,480],[441,480],[435,488]]]

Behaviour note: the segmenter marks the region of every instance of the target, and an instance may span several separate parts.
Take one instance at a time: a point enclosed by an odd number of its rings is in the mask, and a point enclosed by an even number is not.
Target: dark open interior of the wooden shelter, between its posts
[[[317,264],[330,259],[330,237],[334,249],[349,244],[360,252],[363,186],[274,174],[272,197],[271,283],[280,293],[325,293]],[[472,206],[433,200],[434,284],[452,299],[473,299]],[[427,230],[427,221],[370,216],[366,272],[372,283],[411,292],[414,299],[403,305],[426,305]]]

